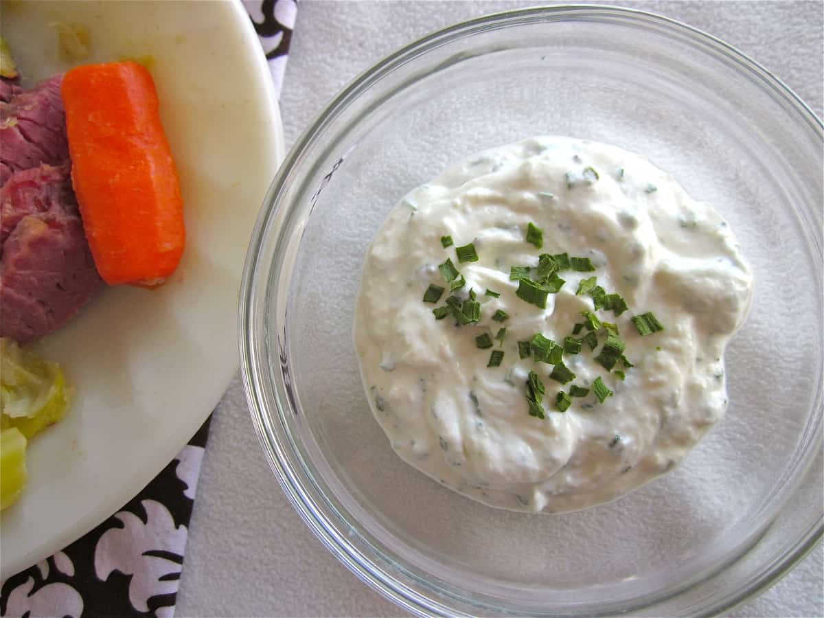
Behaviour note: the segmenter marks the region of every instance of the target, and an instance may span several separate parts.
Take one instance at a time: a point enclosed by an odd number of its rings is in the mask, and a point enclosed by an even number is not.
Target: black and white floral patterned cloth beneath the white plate
[[[295,0],[243,0],[279,94]],[[63,551],[12,575],[0,616],[173,616],[208,421],[143,491]]]

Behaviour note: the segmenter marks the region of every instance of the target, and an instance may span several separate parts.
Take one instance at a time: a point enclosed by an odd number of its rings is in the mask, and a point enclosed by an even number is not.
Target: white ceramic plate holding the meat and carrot
[[[91,35],[84,62],[147,59],[185,200],[186,249],[161,288],[107,288],[38,348],[77,390],[30,442],[26,492],[0,518],[0,577],[115,513],[180,451],[237,369],[237,293],[283,129],[240,2],[4,2],[30,80],[66,70],[54,24]]]

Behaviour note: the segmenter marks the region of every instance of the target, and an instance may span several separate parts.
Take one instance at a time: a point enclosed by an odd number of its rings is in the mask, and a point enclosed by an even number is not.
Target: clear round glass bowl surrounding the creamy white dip
[[[487,508],[401,461],[352,342],[363,254],[400,197],[540,133],[644,153],[718,208],[756,275],[723,422],[676,471],[562,516]],[[419,613],[707,614],[774,582],[822,536],[822,143],[737,50],[619,8],[486,16],[363,73],[283,164],[242,288],[252,418],[307,525]]]

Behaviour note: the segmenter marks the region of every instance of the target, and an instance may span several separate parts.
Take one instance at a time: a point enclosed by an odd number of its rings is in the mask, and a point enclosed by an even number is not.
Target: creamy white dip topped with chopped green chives
[[[531,138],[391,211],[354,338],[400,457],[482,503],[563,513],[671,470],[723,418],[751,290],[727,222],[672,176]]]

